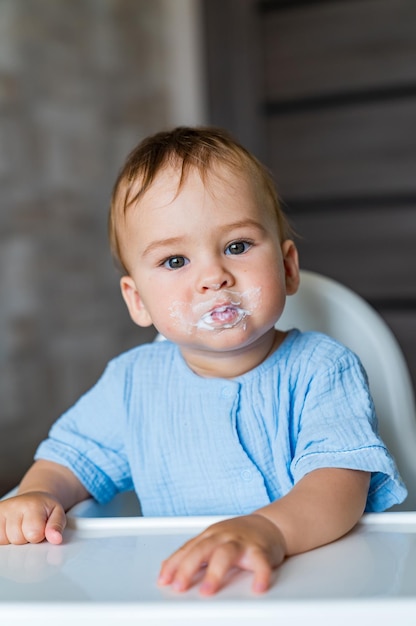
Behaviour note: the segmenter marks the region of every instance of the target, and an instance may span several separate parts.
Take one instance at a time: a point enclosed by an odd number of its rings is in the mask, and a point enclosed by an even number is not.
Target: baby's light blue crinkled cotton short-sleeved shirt
[[[36,458],[70,468],[101,502],[135,489],[150,516],[247,514],[323,467],[371,472],[367,511],[406,496],[358,358],[297,330],[234,379],[197,376],[168,341],[130,350]]]

